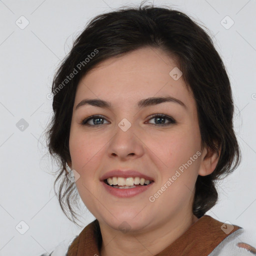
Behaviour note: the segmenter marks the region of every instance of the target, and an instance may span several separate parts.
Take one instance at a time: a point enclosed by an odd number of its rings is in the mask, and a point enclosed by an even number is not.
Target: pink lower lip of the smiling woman
[[[103,183],[103,186],[106,188],[106,190],[117,197],[131,197],[136,194],[142,193],[149,187],[151,187],[152,183],[149,183],[148,185],[143,185],[143,186],[137,186],[133,188],[115,188],[112,186],[107,185],[104,181],[101,181]]]

